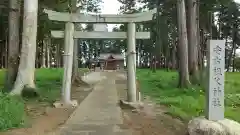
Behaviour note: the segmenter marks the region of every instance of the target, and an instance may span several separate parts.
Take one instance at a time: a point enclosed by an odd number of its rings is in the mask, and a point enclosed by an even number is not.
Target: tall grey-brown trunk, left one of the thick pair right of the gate
[[[178,10],[178,34],[179,34],[179,87],[188,87],[190,84],[188,74],[188,40],[186,28],[185,1],[177,1]]]

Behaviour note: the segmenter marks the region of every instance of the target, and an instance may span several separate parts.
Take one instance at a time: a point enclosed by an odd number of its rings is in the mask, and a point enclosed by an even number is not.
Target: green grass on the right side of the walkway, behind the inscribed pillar
[[[175,71],[139,69],[137,76],[141,91],[157,103],[167,106],[167,113],[188,121],[204,115],[205,93],[201,87],[177,88],[178,74]],[[240,122],[240,73],[225,75],[225,116]]]

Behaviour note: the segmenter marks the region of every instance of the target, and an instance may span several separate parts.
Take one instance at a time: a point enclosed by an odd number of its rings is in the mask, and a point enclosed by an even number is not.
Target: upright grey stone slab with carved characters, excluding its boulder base
[[[208,44],[208,91],[206,118],[224,119],[225,40],[210,40]]]

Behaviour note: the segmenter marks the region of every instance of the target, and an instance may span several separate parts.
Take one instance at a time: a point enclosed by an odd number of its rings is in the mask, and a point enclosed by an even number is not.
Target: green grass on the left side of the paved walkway
[[[81,69],[86,72],[87,69]],[[63,69],[37,69],[38,98],[21,98],[0,93],[0,130],[22,127],[26,124],[25,104],[52,104],[61,95]],[[0,70],[0,88],[3,88],[5,72]]]

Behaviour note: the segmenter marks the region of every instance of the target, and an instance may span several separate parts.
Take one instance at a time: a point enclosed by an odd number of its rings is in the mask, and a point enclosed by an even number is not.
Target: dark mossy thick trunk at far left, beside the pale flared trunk
[[[11,90],[17,77],[19,65],[19,19],[20,0],[10,0],[8,59],[5,89]]]

